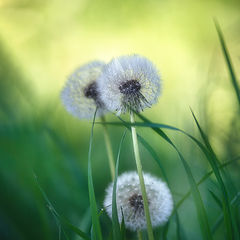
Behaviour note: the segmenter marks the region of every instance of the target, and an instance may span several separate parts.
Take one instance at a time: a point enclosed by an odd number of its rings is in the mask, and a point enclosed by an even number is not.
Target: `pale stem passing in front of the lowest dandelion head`
[[[132,111],[130,112],[130,119],[131,119],[131,123],[135,123],[134,113]],[[145,188],[144,178],[143,178],[143,173],[142,173],[142,164],[141,164],[141,160],[140,160],[136,128],[132,126],[131,131],[132,131],[134,156],[135,156],[135,160],[136,160],[137,172],[138,172],[138,176],[139,176],[139,182],[140,182],[142,198],[143,198],[144,213],[145,213],[146,222],[147,222],[148,239],[154,240],[151,218],[150,218],[149,207],[148,207],[147,193],[146,193],[146,188]]]

